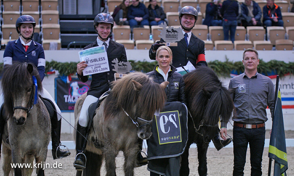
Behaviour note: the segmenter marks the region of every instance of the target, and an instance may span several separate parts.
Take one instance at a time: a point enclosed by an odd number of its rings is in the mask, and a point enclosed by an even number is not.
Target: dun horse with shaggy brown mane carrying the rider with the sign
[[[77,175],[100,176],[103,159],[107,176],[115,176],[115,158],[118,151],[123,151],[125,175],[133,176],[138,153],[137,139],[151,136],[151,122],[154,113],[164,106],[166,94],[162,85],[141,72],[130,73],[114,81],[109,95],[96,109],[92,127],[88,135],[85,155],[86,168],[77,171]],[[77,124],[81,106],[86,95],[83,94],[75,105],[75,122]],[[75,136],[75,134],[74,134]],[[102,148],[95,148],[93,140],[101,142]]]

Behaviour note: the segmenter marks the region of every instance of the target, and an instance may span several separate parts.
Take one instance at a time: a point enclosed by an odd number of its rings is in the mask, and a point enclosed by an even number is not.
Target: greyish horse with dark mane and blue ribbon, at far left
[[[46,106],[38,96],[38,92],[42,91],[39,72],[36,67],[26,62],[5,65],[1,87],[4,95],[3,105],[8,115],[1,141],[4,176],[13,171],[11,163],[16,164],[15,175],[31,175],[34,160],[38,167],[37,175],[43,176],[44,170],[41,166],[47,157],[51,123]],[[6,140],[7,138],[9,140]],[[19,167],[17,164],[31,166]]]

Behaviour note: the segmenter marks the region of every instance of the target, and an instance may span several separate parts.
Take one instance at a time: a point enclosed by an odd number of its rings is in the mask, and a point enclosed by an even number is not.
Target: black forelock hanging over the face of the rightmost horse
[[[219,118],[221,121],[228,122],[231,118],[233,108],[233,101],[230,98],[228,90],[222,86],[218,87],[208,100],[204,119],[211,125],[218,123]]]

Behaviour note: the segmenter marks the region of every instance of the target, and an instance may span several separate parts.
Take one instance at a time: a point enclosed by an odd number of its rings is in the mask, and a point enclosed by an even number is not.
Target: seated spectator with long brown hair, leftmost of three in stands
[[[130,0],[123,0],[123,2],[114,9],[112,17],[118,25],[129,25],[128,23],[128,6]]]

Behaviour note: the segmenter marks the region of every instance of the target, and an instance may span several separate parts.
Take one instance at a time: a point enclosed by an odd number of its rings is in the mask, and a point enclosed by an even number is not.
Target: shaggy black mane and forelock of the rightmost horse
[[[197,67],[183,78],[188,108],[193,117],[203,119],[209,125],[217,124],[219,117],[221,121],[229,121],[233,101],[228,89],[211,68]]]

